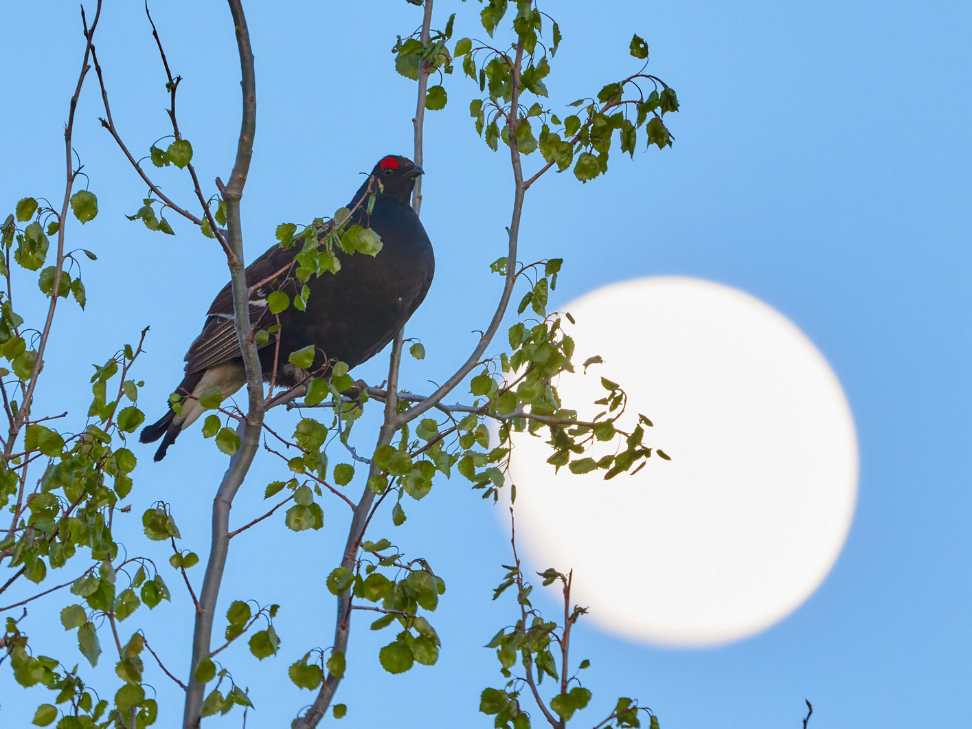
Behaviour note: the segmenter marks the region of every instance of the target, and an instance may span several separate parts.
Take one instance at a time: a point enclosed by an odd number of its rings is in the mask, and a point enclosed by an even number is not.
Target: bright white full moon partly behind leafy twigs
[[[606,630],[674,646],[752,636],[807,600],[851,527],[851,409],[813,342],[762,301],[683,277],[599,289],[563,307],[576,366],[558,384],[581,419],[601,377],[654,424],[635,475],[555,473],[514,436],[516,536],[537,569],[573,569],[572,602]],[[508,490],[507,490],[508,491]],[[504,510],[501,510],[504,511]]]

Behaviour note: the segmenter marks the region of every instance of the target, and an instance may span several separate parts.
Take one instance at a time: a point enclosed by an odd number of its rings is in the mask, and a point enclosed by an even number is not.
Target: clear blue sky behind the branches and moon
[[[437,5],[442,14],[460,14],[455,37],[484,35],[474,4]],[[204,181],[225,179],[239,123],[228,12],[219,2],[157,6],[170,63],[185,77],[180,125],[193,161]],[[374,160],[410,154],[414,88],[394,72],[388,51],[420,15],[402,0],[251,6],[259,127],[244,224],[252,259],[272,242],[278,223],[330,215]],[[638,32],[650,47],[650,72],[677,89],[681,111],[670,122],[676,144],[634,160],[613,156],[608,177],[586,186],[570,175],[544,178],[530,192],[521,258],[566,260],[554,305],[652,274],[712,279],[773,305],[814,340],[840,377],[856,420],[861,481],[851,535],[833,572],[767,632],[716,649],[672,650],[623,642],[581,622],[574,655],[592,662],[585,684],[595,700],[575,724],[593,726],[614,697],[628,695],[677,729],[797,727],[805,698],[815,705],[811,726],[964,726],[962,697],[972,678],[972,145],[965,131],[972,10],[953,2],[768,0],[592,7],[545,8],[565,37],[551,97],[569,102],[630,73],[628,43]],[[83,43],[73,5],[7,3],[0,24],[8,29],[0,47],[7,100],[0,201],[12,209],[22,196],[55,199],[62,190],[60,134]],[[106,4],[97,49],[115,121],[144,153],[168,130],[167,97],[139,4]],[[473,88],[458,76],[447,87],[449,105],[429,114],[426,126],[422,217],[437,270],[408,326],[429,352],[424,363],[406,367],[417,392],[465,359],[471,330],[492,309],[498,280],[487,266],[503,255],[511,198],[507,158],[490,152],[471,128]],[[92,74],[75,147],[100,213],[84,229],[73,226],[71,245],[99,260],[85,264],[87,312],[68,304],[56,322],[41,396],[41,406],[69,408],[78,422],[87,407],[87,364],[104,362],[146,326],[152,330],[139,364],[147,383],[141,405],[154,418],[180,378],[202,312],[226,280],[218,247],[174,216],[175,237],[122,217],[141,205],[143,190],[99,127],[101,115]],[[186,181],[164,172],[165,189],[189,199]],[[383,367],[376,358],[358,372],[380,382]],[[273,413],[271,422],[286,427],[294,418]],[[151,462],[151,447],[135,450],[133,512],[158,499],[171,503],[186,545],[202,554],[225,459],[197,434],[182,438],[161,464]],[[807,451],[813,456],[813,443]],[[235,518],[260,513],[262,484],[278,471],[268,455],[260,458]],[[286,669],[306,649],[330,644],[334,601],[323,577],[344,531],[334,508],[318,533],[295,535],[278,523],[234,540],[224,599],[283,605],[279,657],[258,665],[243,645],[226,651],[234,677],[258,704],[254,725],[284,725],[313,698],[290,684]],[[476,712],[478,693],[501,679],[492,652],[480,646],[515,619],[509,603],[489,602],[508,559],[503,530],[460,481],[437,483],[408,517],[395,540],[429,556],[449,586],[434,620],[441,658],[431,669],[385,675],[376,652],[391,637],[370,634],[358,621],[337,699],[349,706],[345,721],[491,726]],[[127,539],[133,545],[137,521]],[[391,534],[390,523],[384,528]],[[142,621],[149,641],[183,676],[189,658],[178,636],[191,611],[177,573],[163,574],[172,605],[132,622]],[[56,618],[34,605],[28,632],[40,637]],[[49,645],[44,652],[70,663],[74,648],[59,627],[40,640]],[[110,681],[107,639],[103,644],[97,675]],[[167,681],[154,681],[165,712],[160,726],[181,715],[180,692]],[[47,700],[37,689],[26,694],[32,703],[24,696],[0,674],[4,725],[25,724]],[[230,714],[207,724],[239,721]]]

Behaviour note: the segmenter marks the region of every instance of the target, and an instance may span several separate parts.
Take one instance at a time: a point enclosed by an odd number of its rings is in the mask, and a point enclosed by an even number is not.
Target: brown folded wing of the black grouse
[[[254,330],[267,329],[275,323],[267,307],[267,295],[281,289],[290,295],[294,294],[289,291],[295,288],[293,266],[288,265],[294,261],[295,253],[294,248],[274,246],[247,266],[247,285],[252,287],[261,284],[256,291],[250,292],[250,324]],[[281,272],[281,269],[286,270]],[[270,277],[273,278],[265,281]],[[271,337],[268,343],[272,342]],[[206,312],[206,324],[186,353],[186,371],[199,372],[239,356],[240,346],[233,320],[232,289],[226,284]]]

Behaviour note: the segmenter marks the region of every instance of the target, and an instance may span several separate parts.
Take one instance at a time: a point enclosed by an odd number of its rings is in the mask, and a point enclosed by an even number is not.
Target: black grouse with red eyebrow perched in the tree
[[[335,248],[340,269],[310,277],[305,311],[291,305],[272,315],[267,306],[271,293],[284,292],[293,299],[303,287],[294,273],[302,241],[291,247],[274,246],[247,266],[254,330],[267,330],[278,321],[280,324],[280,330],[259,348],[265,381],[293,386],[305,378],[308,370],[297,369],[288,357],[308,345],[317,348],[310,371],[328,361],[344,362],[349,367],[362,364],[392,340],[422,303],[432,283],[435,261],[429,236],[410,205],[415,180],[421,174],[422,168],[403,156],[385,156],[378,161],[348,205],[352,213],[347,226],[370,228],[380,236],[382,248],[374,257],[349,255]],[[368,212],[367,198],[372,193],[374,203]],[[204,412],[197,401],[201,393],[215,385],[222,389],[223,398],[228,398],[245,384],[233,324],[232,292],[226,284],[209,307],[206,324],[186,354],[186,376],[176,390],[184,396],[181,414],[170,406],[139,439],[151,443],[162,438],[155,459],[160,461],[176,437]],[[192,398],[185,397],[190,395]]]

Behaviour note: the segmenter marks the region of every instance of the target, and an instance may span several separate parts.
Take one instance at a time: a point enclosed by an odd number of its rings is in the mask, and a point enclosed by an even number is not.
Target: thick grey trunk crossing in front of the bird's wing
[[[257,82],[254,74],[253,50],[250,46],[250,33],[241,0],[228,0],[229,10],[236,27],[236,45],[240,57],[241,87],[243,91],[243,113],[240,122],[239,141],[236,159],[229,182],[224,190],[226,201],[226,242],[231,256],[227,254],[229,275],[233,295],[233,314],[236,337],[247,376],[249,412],[240,424],[241,446],[230,461],[229,468],[213,501],[213,538],[209,560],[203,577],[202,592],[199,596],[201,611],[195,615],[192,634],[192,657],[190,679],[187,683],[186,705],[183,713],[184,729],[199,726],[205,685],[195,679],[195,669],[199,661],[210,655],[210,642],[213,634],[213,621],[220,585],[226,569],[226,555],[229,549],[229,509],[236,492],[253,463],[260,446],[260,431],[263,424],[263,383],[257,345],[251,337],[249,291],[246,283],[246,266],[243,260],[243,228],[240,221],[240,199],[250,170],[253,156],[254,134],[257,129]]]

